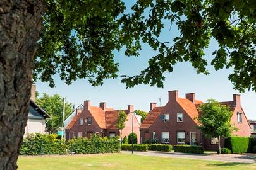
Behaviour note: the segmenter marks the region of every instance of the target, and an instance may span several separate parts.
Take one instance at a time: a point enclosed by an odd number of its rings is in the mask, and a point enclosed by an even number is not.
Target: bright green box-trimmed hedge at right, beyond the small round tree
[[[225,147],[233,154],[250,152],[250,137],[230,137],[225,139]]]

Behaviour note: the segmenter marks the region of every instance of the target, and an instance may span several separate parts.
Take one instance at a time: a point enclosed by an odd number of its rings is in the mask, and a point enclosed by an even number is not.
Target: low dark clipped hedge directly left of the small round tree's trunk
[[[173,149],[174,149],[174,152],[204,154],[204,148],[202,146],[174,145]]]

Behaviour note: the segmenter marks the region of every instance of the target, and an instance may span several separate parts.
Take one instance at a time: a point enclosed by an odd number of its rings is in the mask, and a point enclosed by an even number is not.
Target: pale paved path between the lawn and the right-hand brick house
[[[131,154],[130,151],[122,151],[125,154]],[[159,157],[176,157],[185,159],[204,159],[212,161],[255,163],[256,154],[185,154],[175,152],[134,152],[141,156],[159,156]]]

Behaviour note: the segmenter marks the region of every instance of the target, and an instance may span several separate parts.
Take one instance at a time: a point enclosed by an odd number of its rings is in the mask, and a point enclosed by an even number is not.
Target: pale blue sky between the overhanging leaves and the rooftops
[[[176,26],[168,21],[164,21],[164,30],[161,33],[162,41],[172,41],[174,37],[179,35]],[[205,59],[212,59],[212,52],[217,48],[217,43],[212,40],[209,48],[205,50]],[[142,45],[139,57],[126,57],[123,50],[114,52],[115,61],[119,62],[119,75],[133,76],[138,74],[142,69],[147,67],[147,61],[155,52],[148,45]],[[178,90],[179,96],[185,98],[185,93],[195,93],[195,98],[205,101],[209,98],[218,101],[231,101],[233,94],[240,94],[233,89],[233,85],[228,80],[228,75],[232,69],[223,69],[215,71],[212,66],[207,67],[210,71],[209,76],[197,74],[190,63],[183,62],[174,65],[174,71],[166,73],[166,81],[164,88],[150,87],[149,84],[138,85],[131,89],[126,89],[125,84],[121,84],[121,79],[107,79],[102,86],[92,87],[87,79],[80,79],[73,82],[70,86],[66,85],[54,76],[55,88],[49,88],[47,83],[37,81],[37,91],[40,94],[61,94],[66,96],[69,102],[75,103],[75,106],[83,103],[84,100],[90,100],[92,105],[98,106],[99,102],[106,101],[108,107],[115,109],[124,109],[127,105],[134,105],[136,110],[149,111],[149,103],[156,102],[165,105],[168,101],[168,91]],[[241,105],[248,119],[256,120],[256,93],[254,91],[246,91],[241,93]]]

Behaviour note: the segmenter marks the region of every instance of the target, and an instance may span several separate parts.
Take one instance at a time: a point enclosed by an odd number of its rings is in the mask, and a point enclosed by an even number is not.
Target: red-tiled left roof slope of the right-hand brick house
[[[160,115],[161,111],[164,107],[155,107],[153,110],[149,111],[149,114],[143,120],[142,125],[140,125],[140,128],[150,128],[150,126],[155,122],[157,117]]]

